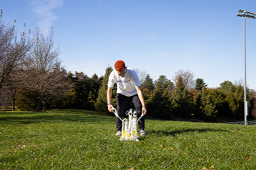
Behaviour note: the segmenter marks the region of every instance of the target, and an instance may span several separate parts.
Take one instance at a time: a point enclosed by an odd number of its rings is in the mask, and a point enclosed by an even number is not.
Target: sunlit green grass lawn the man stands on
[[[145,120],[119,141],[93,111],[0,113],[0,170],[255,170],[256,126]],[[205,169],[205,168],[204,168]]]

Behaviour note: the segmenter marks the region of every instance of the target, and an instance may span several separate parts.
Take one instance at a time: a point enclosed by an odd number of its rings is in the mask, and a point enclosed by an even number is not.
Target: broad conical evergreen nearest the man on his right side
[[[163,76],[165,77],[165,76]],[[170,94],[166,90],[161,79],[156,82],[156,88],[148,102],[146,103],[148,113],[152,116],[169,119],[172,116]]]

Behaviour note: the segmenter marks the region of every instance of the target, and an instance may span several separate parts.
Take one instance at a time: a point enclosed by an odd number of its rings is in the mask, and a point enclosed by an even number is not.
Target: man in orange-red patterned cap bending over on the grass
[[[108,79],[108,110],[112,112],[113,106],[111,105],[112,88],[114,84],[117,84],[116,91],[116,103],[117,103],[117,114],[122,119],[123,108],[125,100],[128,97],[132,98],[134,106],[137,111],[137,116],[140,117],[141,114],[146,114],[147,110],[145,108],[144,97],[140,88],[140,79],[133,68],[125,67],[125,62],[118,60],[115,63],[115,70],[111,72]],[[140,135],[145,136],[145,120],[144,116],[138,122],[140,128]],[[116,136],[122,134],[122,121],[116,117]]]

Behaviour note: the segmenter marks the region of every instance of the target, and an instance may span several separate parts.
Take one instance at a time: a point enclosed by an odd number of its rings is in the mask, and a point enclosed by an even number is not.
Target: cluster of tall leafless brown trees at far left
[[[59,49],[53,46],[53,29],[45,37],[39,28],[17,33],[14,24],[4,23],[0,15],[0,101],[6,107],[12,103],[22,109],[25,104],[46,110],[52,96],[59,96],[71,86],[61,65]],[[27,96],[33,96],[33,99]],[[19,101],[19,102],[18,102]],[[23,103],[22,103],[23,102]],[[24,104],[24,106],[23,106]],[[22,108],[23,107],[23,108]]]

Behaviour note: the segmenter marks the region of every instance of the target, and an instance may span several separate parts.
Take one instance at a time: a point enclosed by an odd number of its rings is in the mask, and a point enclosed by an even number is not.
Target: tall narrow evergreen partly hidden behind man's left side
[[[113,71],[113,68],[111,66],[108,66],[106,68],[106,72],[102,81],[102,84],[99,88],[99,95],[96,100],[96,103],[94,104],[96,111],[100,111],[102,113],[108,113],[108,101],[107,101],[107,91],[108,91],[108,78],[111,72]],[[116,108],[116,85],[114,85],[112,89],[112,99],[111,103],[113,107]]]

